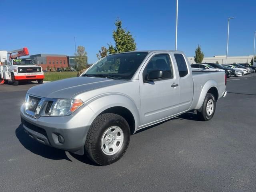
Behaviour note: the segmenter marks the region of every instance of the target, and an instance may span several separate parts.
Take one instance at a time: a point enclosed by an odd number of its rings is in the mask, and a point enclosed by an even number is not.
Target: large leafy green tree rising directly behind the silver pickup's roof
[[[122,28],[122,21],[117,19],[115,22],[116,30],[113,31],[115,46],[108,44],[108,52],[110,54],[122,53],[136,50],[136,42],[130,31]]]

